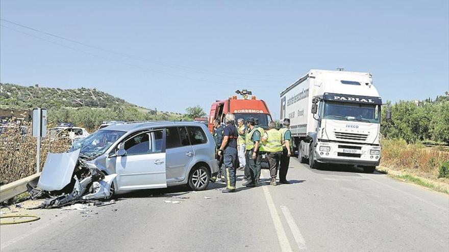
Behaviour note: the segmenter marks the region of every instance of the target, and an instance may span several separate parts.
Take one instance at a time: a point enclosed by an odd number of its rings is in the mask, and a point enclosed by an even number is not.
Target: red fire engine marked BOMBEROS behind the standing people
[[[226,100],[217,100],[212,103],[209,113],[209,130],[213,131],[215,119],[224,122],[224,116],[228,113],[234,114],[236,121],[239,118],[245,121],[249,117],[257,118],[259,119],[259,126],[268,129],[268,123],[272,121],[272,118],[265,101],[257,100],[256,96],[253,96],[252,92],[246,89],[242,91],[237,90],[236,93],[241,95],[242,98],[237,99],[237,96],[234,95]]]

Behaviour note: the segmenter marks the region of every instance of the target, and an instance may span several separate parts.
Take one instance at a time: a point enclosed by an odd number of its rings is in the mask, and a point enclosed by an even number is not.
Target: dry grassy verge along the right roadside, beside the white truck
[[[438,175],[442,163],[448,160],[449,151],[444,148],[407,144],[403,139],[383,139],[379,170],[392,177],[447,193],[449,178],[438,178]]]

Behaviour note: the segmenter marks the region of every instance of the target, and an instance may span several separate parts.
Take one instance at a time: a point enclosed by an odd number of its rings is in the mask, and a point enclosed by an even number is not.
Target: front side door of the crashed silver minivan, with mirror
[[[119,145],[115,169],[118,190],[167,187],[165,130],[133,134]]]

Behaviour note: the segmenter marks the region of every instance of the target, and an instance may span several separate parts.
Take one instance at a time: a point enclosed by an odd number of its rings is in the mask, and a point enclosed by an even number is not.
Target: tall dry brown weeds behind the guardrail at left
[[[47,134],[48,136],[49,134]],[[61,153],[70,148],[69,139],[42,139],[40,170],[48,152]],[[36,173],[36,138],[22,135],[19,128],[7,128],[0,134],[0,181],[12,182]]]

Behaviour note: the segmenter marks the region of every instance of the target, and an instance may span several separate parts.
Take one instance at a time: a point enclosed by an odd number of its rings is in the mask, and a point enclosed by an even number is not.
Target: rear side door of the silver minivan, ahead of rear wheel
[[[185,127],[167,127],[167,182],[182,181],[193,159],[193,148]]]

